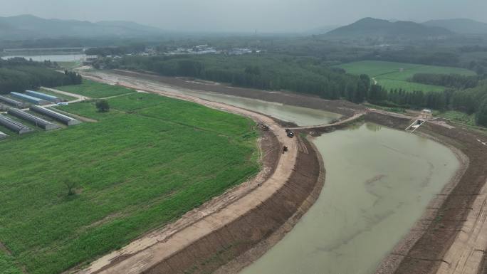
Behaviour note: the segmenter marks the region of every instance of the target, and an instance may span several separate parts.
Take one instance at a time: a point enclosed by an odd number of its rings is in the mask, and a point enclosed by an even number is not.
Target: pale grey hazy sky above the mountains
[[[363,17],[487,21],[486,0],[0,0],[0,16],[127,20],[179,31],[301,31]]]

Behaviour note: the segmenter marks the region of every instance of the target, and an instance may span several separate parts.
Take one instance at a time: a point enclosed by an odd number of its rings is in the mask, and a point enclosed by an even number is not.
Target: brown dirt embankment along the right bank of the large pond
[[[408,120],[389,117],[379,113],[365,116],[366,121],[404,130]],[[423,218],[419,220],[407,237],[391,255],[384,260],[377,273],[432,274],[436,273],[445,260],[446,252],[456,240],[464,226],[472,204],[476,200],[487,178],[487,147],[478,142],[485,136],[461,128],[449,129],[427,123],[420,132],[431,135],[449,147],[459,149],[468,157],[466,169],[456,174],[444,191],[432,201]],[[449,188],[451,186],[451,188]]]

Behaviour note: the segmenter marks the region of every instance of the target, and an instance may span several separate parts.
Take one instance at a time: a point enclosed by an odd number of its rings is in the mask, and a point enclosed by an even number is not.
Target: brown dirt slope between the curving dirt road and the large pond
[[[304,143],[309,153],[298,154],[293,174],[271,199],[262,201],[236,221],[213,231],[144,273],[211,273],[229,262],[231,264],[224,266],[219,273],[237,273],[251,260],[258,258],[297,222],[297,218],[319,195],[319,190],[316,191],[320,177],[318,154],[307,141]],[[310,197],[310,194],[313,196]],[[290,219],[294,221],[289,223]],[[283,228],[285,224],[287,228]],[[276,231],[281,236],[276,236]],[[271,239],[271,236],[274,238]],[[259,246],[263,241],[267,241],[267,247]]]

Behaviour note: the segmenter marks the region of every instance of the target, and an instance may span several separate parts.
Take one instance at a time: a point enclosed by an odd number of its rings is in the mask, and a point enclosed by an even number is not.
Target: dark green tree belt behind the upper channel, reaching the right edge
[[[477,113],[483,122],[483,103],[487,101],[487,83],[476,77],[457,75],[414,75],[420,83],[450,86],[443,93],[420,90],[387,90],[372,85],[368,75],[347,75],[333,70],[313,58],[290,56],[127,56],[117,66],[150,70],[161,75],[184,76],[231,83],[231,85],[264,90],[290,90],[318,95],[321,98],[369,101],[377,105],[404,108],[428,107],[434,110],[461,110]],[[476,88],[469,88],[476,86]],[[456,89],[454,89],[456,88]],[[464,89],[468,88],[468,89]]]

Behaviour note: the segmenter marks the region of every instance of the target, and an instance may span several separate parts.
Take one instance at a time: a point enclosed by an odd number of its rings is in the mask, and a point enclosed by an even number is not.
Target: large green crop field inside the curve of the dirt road
[[[143,93],[108,101],[108,113],[94,102],[60,107],[98,122],[0,142],[0,242],[12,254],[0,248],[0,273],[61,273],[258,172],[247,118]]]

